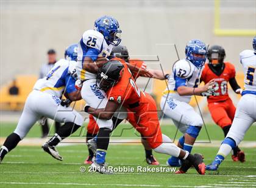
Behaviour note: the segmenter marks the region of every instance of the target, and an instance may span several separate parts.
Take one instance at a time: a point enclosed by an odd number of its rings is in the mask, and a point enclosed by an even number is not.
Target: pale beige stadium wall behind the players
[[[221,28],[255,29],[255,1],[224,1]],[[239,12],[239,14],[238,14]],[[239,53],[252,48],[252,36],[216,36],[214,1],[1,1],[1,81],[17,74],[38,74],[49,48],[63,58],[65,47],[93,29],[96,18],[112,15],[123,30],[123,44],[132,57],[160,59],[171,70],[184,57],[187,41],[200,38],[207,44],[223,45],[226,60],[241,70]],[[160,68],[157,61],[149,67]]]

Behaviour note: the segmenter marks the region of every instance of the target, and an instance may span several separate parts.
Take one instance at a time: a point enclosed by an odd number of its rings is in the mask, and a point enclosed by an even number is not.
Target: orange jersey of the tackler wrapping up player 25
[[[119,82],[107,91],[108,100],[116,101],[132,112],[140,109],[145,94],[138,89],[135,79],[128,69],[126,62],[120,58],[114,58],[124,65],[124,72]]]

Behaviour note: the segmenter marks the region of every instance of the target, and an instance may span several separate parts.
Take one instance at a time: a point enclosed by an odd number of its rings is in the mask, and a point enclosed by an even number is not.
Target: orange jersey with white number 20
[[[221,75],[216,75],[213,70],[210,69],[209,65],[205,64],[201,80],[208,83],[211,79],[215,79],[216,82],[215,90],[217,96],[209,96],[207,98],[208,102],[219,102],[229,99],[227,82],[229,82],[231,78],[235,78],[235,67],[230,62],[224,62],[224,66]]]

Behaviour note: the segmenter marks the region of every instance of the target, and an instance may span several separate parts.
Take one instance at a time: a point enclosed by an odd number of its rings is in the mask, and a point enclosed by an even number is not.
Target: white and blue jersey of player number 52
[[[175,98],[182,102],[190,102],[191,95],[180,96],[177,93],[177,88],[180,86],[198,87],[203,69],[204,67],[197,68],[188,59],[177,61],[172,67],[172,72],[168,79],[168,87],[163,92],[163,96]]]

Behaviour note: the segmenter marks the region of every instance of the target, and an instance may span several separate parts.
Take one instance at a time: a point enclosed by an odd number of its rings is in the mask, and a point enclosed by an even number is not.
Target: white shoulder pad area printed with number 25
[[[87,30],[84,32],[82,38],[85,45],[101,51],[104,36],[100,32],[97,32],[96,30]]]

